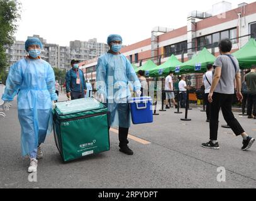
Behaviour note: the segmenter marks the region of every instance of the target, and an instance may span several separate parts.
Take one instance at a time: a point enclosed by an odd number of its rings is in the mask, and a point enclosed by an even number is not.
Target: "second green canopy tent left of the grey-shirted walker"
[[[174,55],[172,55],[165,63],[159,65],[155,68],[152,68],[149,72],[150,77],[163,77],[167,76],[170,70],[175,70],[175,67],[181,65],[180,62]]]

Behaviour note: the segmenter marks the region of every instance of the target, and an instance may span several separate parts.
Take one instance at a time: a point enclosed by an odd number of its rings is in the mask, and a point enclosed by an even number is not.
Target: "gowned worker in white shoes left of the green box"
[[[42,43],[29,38],[25,43],[28,56],[11,66],[2,99],[8,104],[18,94],[18,118],[21,125],[21,151],[30,156],[28,172],[37,170],[43,154],[40,144],[52,133],[52,107],[55,75],[49,63],[40,58]]]

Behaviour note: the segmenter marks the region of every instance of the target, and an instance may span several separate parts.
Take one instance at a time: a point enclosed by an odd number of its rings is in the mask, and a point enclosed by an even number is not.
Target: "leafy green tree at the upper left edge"
[[[18,27],[20,11],[21,3],[18,0],[0,0],[0,80],[6,77],[6,46],[13,44],[13,35]]]

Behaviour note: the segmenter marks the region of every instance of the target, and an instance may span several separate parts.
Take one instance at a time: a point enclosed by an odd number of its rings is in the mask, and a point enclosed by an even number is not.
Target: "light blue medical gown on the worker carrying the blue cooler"
[[[103,94],[110,112],[109,124],[130,127],[130,87],[140,90],[140,80],[125,55],[105,53],[97,62],[97,93]]]

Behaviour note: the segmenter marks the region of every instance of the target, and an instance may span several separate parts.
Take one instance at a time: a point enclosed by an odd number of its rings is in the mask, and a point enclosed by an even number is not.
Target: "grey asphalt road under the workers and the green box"
[[[200,110],[189,111],[189,122],[180,120],[184,113],[174,114],[170,109],[154,116],[153,124],[131,126],[130,134],[139,138],[130,139],[133,156],[120,153],[118,135],[111,132],[111,151],[63,163],[50,135],[42,146],[37,182],[29,182],[29,161],[20,154],[13,102],[7,116],[0,117],[0,188],[255,188],[256,144],[250,151],[241,151],[242,138],[220,128],[220,150],[201,148],[209,140],[209,124]],[[256,138],[256,120],[235,116]],[[225,124],[220,117],[220,124]],[[217,181],[219,167],[226,170],[226,182]]]

